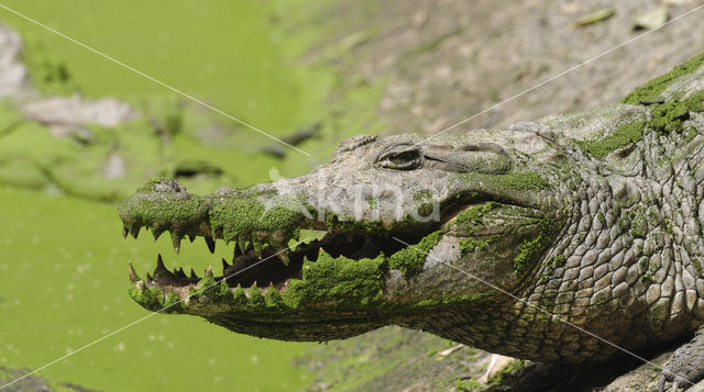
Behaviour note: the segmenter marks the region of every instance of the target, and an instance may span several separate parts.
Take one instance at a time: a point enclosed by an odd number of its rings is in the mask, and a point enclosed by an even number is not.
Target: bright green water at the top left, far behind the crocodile
[[[304,4],[304,1],[297,1]],[[332,75],[295,64],[308,41],[275,1],[22,1],[3,4],[273,134],[319,121]],[[311,7],[312,9],[312,7]],[[0,9],[30,51],[61,59],[88,97],[172,94]]]

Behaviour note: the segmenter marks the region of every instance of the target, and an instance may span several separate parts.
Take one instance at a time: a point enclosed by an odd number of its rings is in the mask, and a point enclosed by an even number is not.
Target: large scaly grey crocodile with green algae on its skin
[[[703,101],[704,54],[610,107],[353,136],[307,175],[209,195],[151,179],[119,206],[125,237],[233,258],[222,275],[130,265],[130,295],[258,337],[399,325],[544,362],[689,339],[659,385],[686,389],[704,378]]]

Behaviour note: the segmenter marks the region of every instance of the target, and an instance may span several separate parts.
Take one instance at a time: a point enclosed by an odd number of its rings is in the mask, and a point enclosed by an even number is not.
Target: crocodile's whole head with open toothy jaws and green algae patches
[[[495,288],[525,284],[562,227],[553,183],[565,158],[551,137],[354,136],[307,175],[205,197],[151,180],[119,208],[125,236],[169,232],[176,249],[201,236],[211,250],[234,243],[234,256],[202,277],[160,256],[153,275],[130,269],[130,293],[261,337],[328,340],[389,324],[451,336],[440,315],[480,317],[506,301]]]

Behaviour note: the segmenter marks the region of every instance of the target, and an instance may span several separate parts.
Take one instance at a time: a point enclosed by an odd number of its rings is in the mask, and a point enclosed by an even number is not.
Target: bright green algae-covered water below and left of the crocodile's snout
[[[127,295],[127,260],[142,275],[157,251],[168,267],[176,261],[168,236],[122,239],[113,205],[6,187],[0,222],[0,363],[8,367],[38,368],[148,315]],[[211,256],[200,240],[184,244],[178,265],[202,271],[232,251],[218,246]],[[307,347],[155,314],[41,374],[109,391],[297,390],[307,373],[292,361]]]

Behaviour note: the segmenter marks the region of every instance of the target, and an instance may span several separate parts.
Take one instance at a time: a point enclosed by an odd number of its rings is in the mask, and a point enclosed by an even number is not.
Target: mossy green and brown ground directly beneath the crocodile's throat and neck
[[[676,346],[646,358],[664,366]],[[579,366],[518,366],[510,357],[399,327],[330,341],[297,362],[315,371],[308,391],[319,391],[319,385],[334,385],[336,391],[656,391],[660,377],[652,365],[629,356]],[[380,369],[382,363],[387,366]]]

